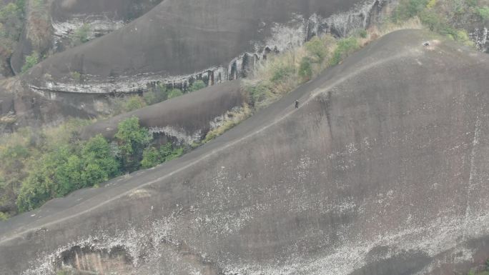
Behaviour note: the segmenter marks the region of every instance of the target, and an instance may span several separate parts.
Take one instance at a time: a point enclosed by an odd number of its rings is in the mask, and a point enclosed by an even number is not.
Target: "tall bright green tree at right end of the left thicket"
[[[149,131],[139,126],[139,119],[133,116],[119,123],[115,139],[119,145],[119,159],[124,171],[139,169],[144,149],[152,141]]]

